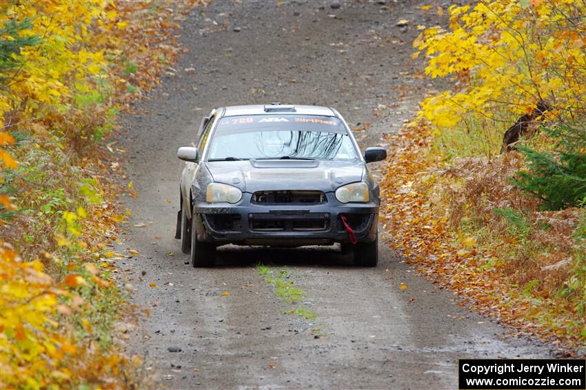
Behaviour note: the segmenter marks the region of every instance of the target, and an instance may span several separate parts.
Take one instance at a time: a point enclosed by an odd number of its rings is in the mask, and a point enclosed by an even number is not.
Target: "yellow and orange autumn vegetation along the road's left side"
[[[130,213],[115,202],[124,150],[103,139],[168,71],[187,12],[163,1],[0,6],[3,389],[137,384],[140,359],[117,347],[125,294],[110,251]]]

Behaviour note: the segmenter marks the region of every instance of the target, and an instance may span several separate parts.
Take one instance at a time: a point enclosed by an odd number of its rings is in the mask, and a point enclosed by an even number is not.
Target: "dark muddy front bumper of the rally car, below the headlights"
[[[340,215],[358,242],[376,239],[378,202],[342,204],[326,193],[323,204],[254,204],[244,193],[238,204],[194,204],[198,240],[221,244],[283,245],[350,242]]]

